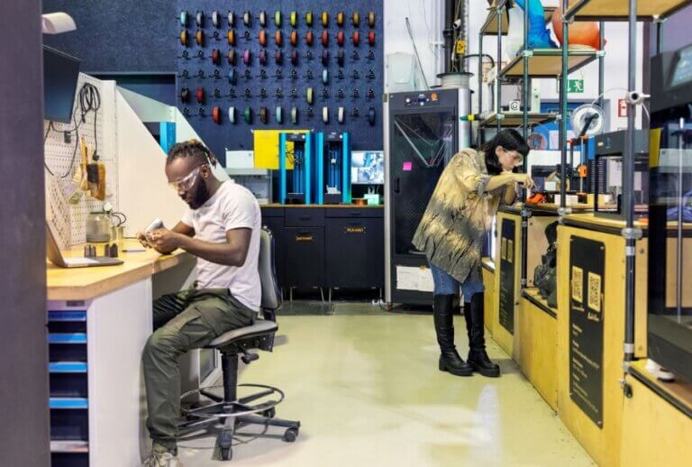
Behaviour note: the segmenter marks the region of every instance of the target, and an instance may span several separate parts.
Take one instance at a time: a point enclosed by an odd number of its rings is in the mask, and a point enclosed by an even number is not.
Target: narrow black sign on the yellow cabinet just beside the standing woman
[[[514,334],[514,294],[516,292],[516,270],[514,260],[516,255],[515,235],[516,223],[510,219],[503,219],[500,228],[500,325],[510,334]]]

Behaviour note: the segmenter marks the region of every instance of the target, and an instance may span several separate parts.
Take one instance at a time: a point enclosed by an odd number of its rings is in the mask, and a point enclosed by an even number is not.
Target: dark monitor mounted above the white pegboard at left
[[[43,103],[46,120],[69,123],[78,78],[78,59],[43,46]]]

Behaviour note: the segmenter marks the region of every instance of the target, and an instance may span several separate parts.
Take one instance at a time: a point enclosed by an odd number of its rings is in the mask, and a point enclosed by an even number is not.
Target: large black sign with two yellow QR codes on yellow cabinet
[[[572,237],[569,244],[569,397],[603,428],[605,246]]]

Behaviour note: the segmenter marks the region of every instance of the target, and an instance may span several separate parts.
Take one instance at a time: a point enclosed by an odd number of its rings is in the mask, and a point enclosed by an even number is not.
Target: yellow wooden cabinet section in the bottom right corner
[[[625,380],[631,393],[624,398],[622,465],[689,465],[692,384],[661,382],[643,360],[633,362]]]

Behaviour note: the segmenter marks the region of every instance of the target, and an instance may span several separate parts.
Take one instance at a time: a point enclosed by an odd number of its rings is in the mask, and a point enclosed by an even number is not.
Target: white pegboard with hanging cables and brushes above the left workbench
[[[81,122],[82,112],[79,106],[79,91],[84,85],[94,85],[101,95],[101,106],[95,112],[85,114],[84,122]],[[70,245],[87,242],[86,223],[87,215],[92,211],[100,211],[104,201],[90,197],[84,192],[75,204],[68,203],[70,186],[75,169],[78,168],[81,155],[79,151],[79,137],[84,136],[85,142],[92,150],[98,147],[100,160],[105,164],[106,188],[105,200],[110,202],[117,210],[117,158],[115,157],[114,133],[105,132],[104,127],[114,122],[114,105],[109,105],[110,99],[105,95],[103,82],[79,74],[75,103],[72,108],[72,123],[53,123],[53,129],[48,133],[44,144],[46,165],[54,175],[46,174],[46,215],[50,219],[53,233],[60,248],[66,249]],[[95,132],[96,118],[96,132]],[[74,130],[76,124],[78,131],[70,133],[71,142],[65,142],[65,132]],[[49,122],[43,126],[43,132],[48,130]],[[114,127],[114,125],[113,125]],[[96,142],[98,144],[96,144]]]

